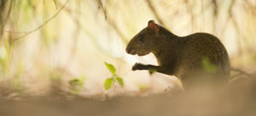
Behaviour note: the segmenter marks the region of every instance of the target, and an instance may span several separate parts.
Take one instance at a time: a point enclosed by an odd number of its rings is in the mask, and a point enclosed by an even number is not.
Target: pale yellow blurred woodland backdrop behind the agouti
[[[143,96],[181,88],[177,78],[131,71],[154,55],[125,53],[130,39],[154,20],[177,36],[208,32],[230,55],[231,67],[256,67],[255,0],[1,0],[0,96],[43,96],[58,88],[80,96]],[[124,87],[104,90],[113,64]],[[81,81],[78,86],[70,82]]]

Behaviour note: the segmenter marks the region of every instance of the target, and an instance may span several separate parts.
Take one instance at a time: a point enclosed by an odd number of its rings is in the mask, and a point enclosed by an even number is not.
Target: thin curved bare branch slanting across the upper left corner
[[[55,19],[55,17],[61,13],[61,10],[64,9],[67,5],[67,3],[69,2],[69,0],[66,1],[66,3],[63,4],[63,6],[61,6],[61,9],[59,9],[52,17],[50,17],[48,20],[46,20],[42,25],[38,26],[37,28],[33,29],[32,31],[29,31],[29,32],[26,32],[26,34],[18,37],[18,38],[15,38],[15,41],[19,40],[20,38],[24,38],[26,36],[28,36],[29,34],[31,34],[32,32],[36,32],[38,31],[39,29],[41,29],[44,25],[46,25],[47,23],[49,23],[50,20],[53,20]],[[11,31],[7,31],[7,32],[11,32]],[[11,32],[13,33],[13,32]],[[15,32],[14,32],[15,33]]]

